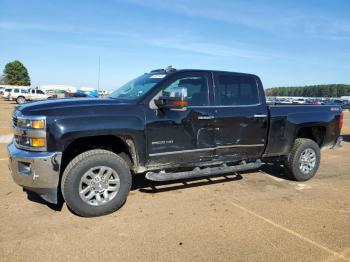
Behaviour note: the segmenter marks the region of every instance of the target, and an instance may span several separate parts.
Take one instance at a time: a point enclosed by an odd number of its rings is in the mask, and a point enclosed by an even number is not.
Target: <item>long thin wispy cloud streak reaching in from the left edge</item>
[[[185,52],[198,53],[208,56],[218,57],[239,57],[249,59],[268,59],[277,57],[276,55],[268,54],[267,52],[261,52],[254,50],[254,47],[243,48],[245,43],[230,42],[229,45],[223,43],[215,43],[196,36],[194,33],[187,32],[186,30],[178,30],[174,28],[163,28],[157,26],[153,28],[153,33],[145,33],[143,31],[125,31],[114,29],[98,29],[92,27],[77,27],[66,24],[39,24],[39,23],[18,23],[18,22],[0,22],[0,29],[6,30],[34,30],[45,31],[50,33],[74,33],[88,36],[94,41],[103,41],[106,43],[112,43],[116,40],[124,39],[134,43],[142,43],[149,46],[163,47],[176,49]],[[164,34],[167,32],[167,34]],[[156,36],[155,36],[156,35]],[[164,37],[159,37],[164,35]],[[168,37],[168,35],[170,37]],[[62,40],[63,41],[63,40]],[[93,48],[93,45],[70,43],[69,40],[64,42],[55,42],[55,45],[59,44],[65,47],[72,48]]]

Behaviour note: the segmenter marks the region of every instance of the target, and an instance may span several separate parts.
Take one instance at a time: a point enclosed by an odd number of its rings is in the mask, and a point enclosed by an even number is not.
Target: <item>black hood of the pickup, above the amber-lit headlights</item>
[[[134,102],[112,98],[67,98],[53,99],[23,104],[16,109],[26,115],[66,115],[66,114],[93,114],[100,110],[109,110],[116,106],[135,105]]]

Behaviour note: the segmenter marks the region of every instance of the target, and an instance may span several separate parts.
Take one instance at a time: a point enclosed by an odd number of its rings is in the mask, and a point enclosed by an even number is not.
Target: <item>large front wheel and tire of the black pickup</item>
[[[104,169],[107,171],[103,171]],[[107,177],[108,174],[111,175]],[[97,177],[99,179],[96,180]],[[113,184],[111,181],[118,182]],[[75,214],[95,217],[118,210],[127,199],[131,181],[130,169],[120,156],[111,151],[97,149],[76,156],[68,164],[63,172],[61,190],[67,206]],[[114,191],[109,191],[109,188]],[[87,192],[82,193],[85,190]],[[104,197],[105,191],[109,194],[107,198]],[[94,192],[95,195],[88,200]]]

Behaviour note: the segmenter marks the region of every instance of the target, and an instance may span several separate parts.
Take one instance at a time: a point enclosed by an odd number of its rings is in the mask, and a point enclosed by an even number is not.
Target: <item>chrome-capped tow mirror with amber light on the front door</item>
[[[158,108],[183,109],[188,106],[187,88],[176,87],[164,90],[159,99],[154,101]]]

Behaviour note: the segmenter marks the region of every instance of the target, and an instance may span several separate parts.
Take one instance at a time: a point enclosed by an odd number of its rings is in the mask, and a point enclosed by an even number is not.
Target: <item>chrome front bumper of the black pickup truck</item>
[[[61,152],[30,152],[7,146],[9,168],[16,184],[39,194],[50,203],[57,204]]]

